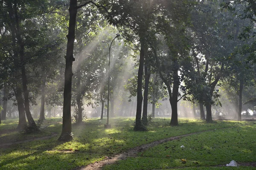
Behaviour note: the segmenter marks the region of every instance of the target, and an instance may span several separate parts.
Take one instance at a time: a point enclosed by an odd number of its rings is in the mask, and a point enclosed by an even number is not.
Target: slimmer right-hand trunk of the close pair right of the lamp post
[[[146,49],[145,49],[146,50]],[[147,57],[147,55],[145,55]],[[144,86],[144,99],[143,99],[143,113],[142,113],[142,123],[144,125],[148,124],[148,86],[150,79],[150,65],[145,64],[145,86]]]

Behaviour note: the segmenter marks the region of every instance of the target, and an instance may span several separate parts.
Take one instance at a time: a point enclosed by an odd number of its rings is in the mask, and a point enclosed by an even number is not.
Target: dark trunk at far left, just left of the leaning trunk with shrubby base
[[[17,129],[21,130],[26,125],[26,113],[24,109],[21,88],[16,88],[15,97],[17,100],[18,113],[19,113],[19,124],[17,126]]]

